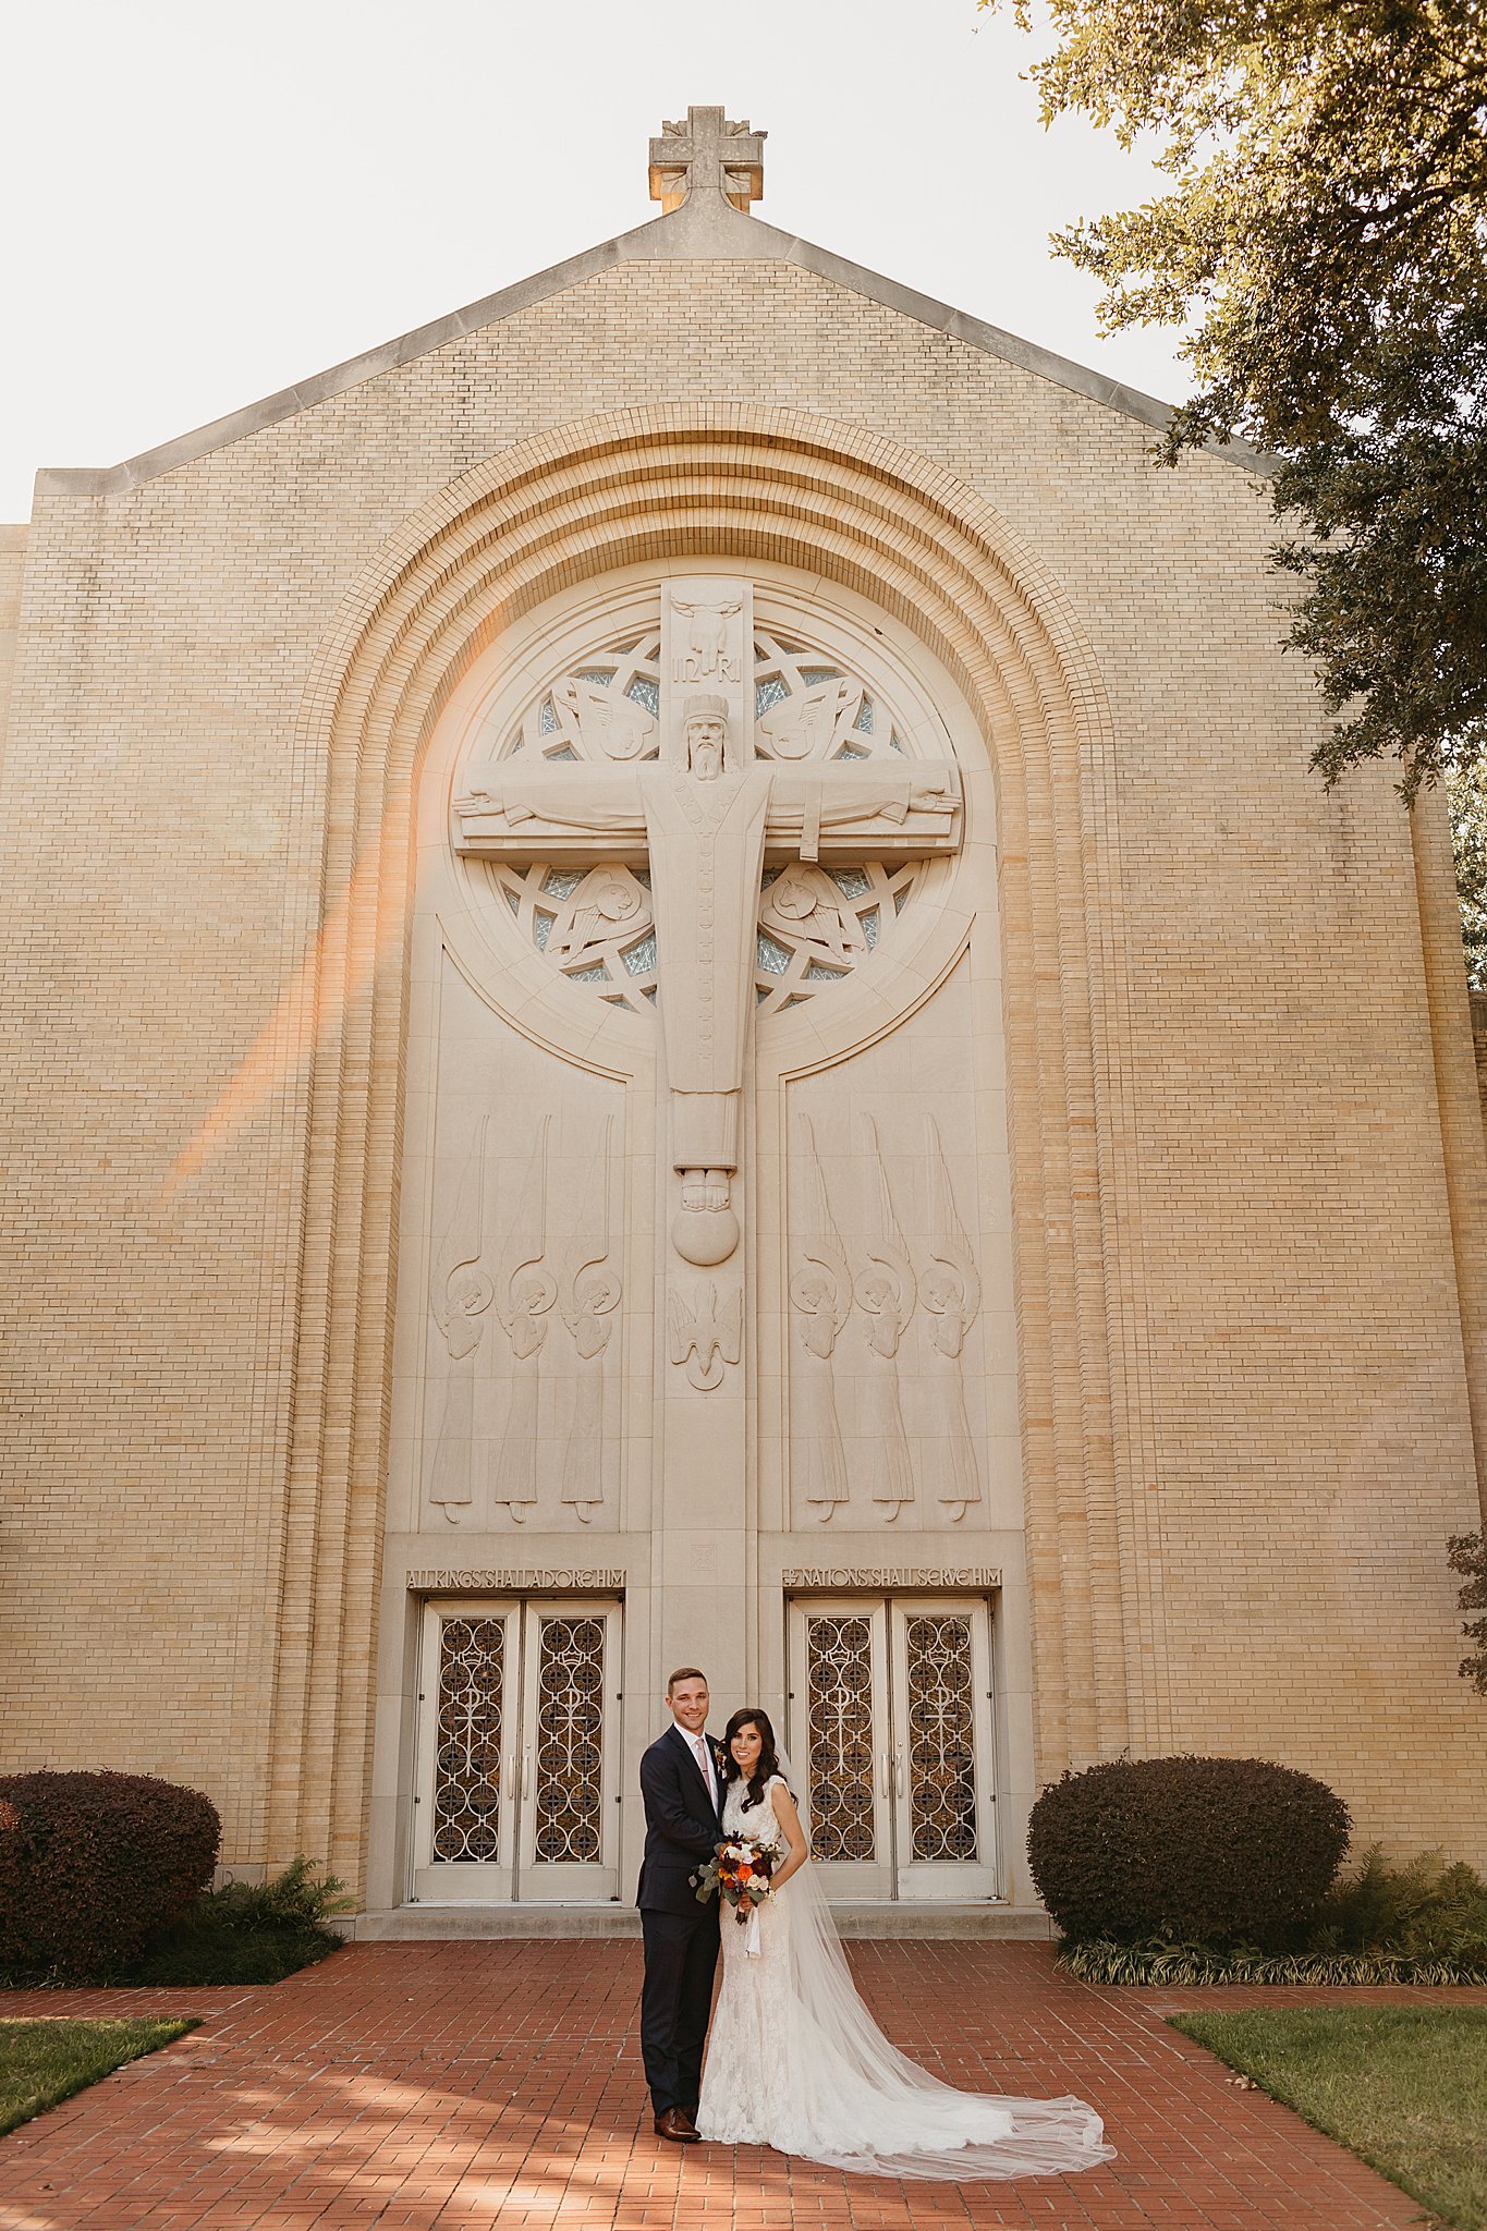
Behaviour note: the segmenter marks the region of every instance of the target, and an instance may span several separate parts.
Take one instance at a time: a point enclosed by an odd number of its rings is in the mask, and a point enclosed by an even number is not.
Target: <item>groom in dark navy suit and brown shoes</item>
[[[713,2010],[718,1901],[698,1903],[693,1876],[722,1838],[722,1749],[707,1733],[707,1675],[678,1667],[667,1682],[671,1727],[640,1760],[647,1847],[640,1867],[644,1983],[640,2053],[655,2135],[698,2135],[702,2044]]]

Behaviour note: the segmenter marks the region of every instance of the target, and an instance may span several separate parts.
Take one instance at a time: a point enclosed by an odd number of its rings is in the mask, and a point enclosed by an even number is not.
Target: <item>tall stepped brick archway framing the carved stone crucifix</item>
[[[323,868],[301,991],[272,1861],[323,1852],[361,1876],[419,756],[515,618],[611,569],[700,556],[807,567],[872,598],[950,667],[988,738],[1039,1769],[1162,1740],[1157,1559],[1133,1477],[1150,1439],[1139,1216],[1108,1057],[1124,1006],[1117,767],[1095,663],[1037,556],[923,457],[800,413],[658,406],[555,428],[417,511],[346,600],[301,707],[299,759],[312,794],[323,785],[305,841],[323,832]]]

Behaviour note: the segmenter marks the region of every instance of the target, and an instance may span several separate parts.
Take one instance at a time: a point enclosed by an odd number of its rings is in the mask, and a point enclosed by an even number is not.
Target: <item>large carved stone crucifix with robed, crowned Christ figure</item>
[[[952,761],[780,763],[754,736],[747,580],[662,589],[662,743],[647,765],[502,761],[455,799],[455,850],[511,863],[651,868],[667,1051],[671,1225],[687,1263],[738,1247],[733,1182],[765,863],[927,859],[961,843]]]

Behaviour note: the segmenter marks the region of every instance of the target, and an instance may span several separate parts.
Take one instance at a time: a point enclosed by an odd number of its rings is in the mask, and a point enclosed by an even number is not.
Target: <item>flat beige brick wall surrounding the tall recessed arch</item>
[[[390,1203],[363,1220],[346,1158],[317,1191],[310,1046],[339,1024],[321,1004],[314,1037],[308,988],[283,1008],[303,1057],[169,1174],[325,917],[334,946],[334,863],[377,839],[305,721],[359,582],[461,473],[673,399],[829,419],[954,475],[1034,553],[1108,707],[1097,765],[1043,770],[1081,863],[1032,814],[1003,868],[1008,948],[1028,908],[1079,915],[1099,1004],[1079,1053],[1028,975],[1092,1095],[1037,1111],[1095,1174],[1059,1198],[1046,1167],[1039,1245],[1095,1272],[1068,1274],[1077,1321],[1034,1296],[1023,1334],[1110,1479],[1072,1564],[1059,1464],[1030,1484],[1043,1644],[1061,1602],[1088,1611],[1057,1680],[1041,1644],[1043,1767],[1255,1749],[1333,1778],[1369,1834],[1483,1856],[1442,1555],[1478,1508],[1458,1263],[1480,1234],[1451,1225],[1409,830],[1387,776],[1324,796],[1306,772],[1318,703],[1275,645],[1264,491],[1215,457],[1159,473],[1137,419],[780,261],[618,263],[138,486],[38,500],[0,812],[7,1760],[196,1780],[254,1861],[279,1713],[272,1774],[319,1832],[305,1785],[363,1731],[317,1638],[370,1649],[370,1553],[339,1544],[370,1539],[341,1504],[375,1510],[379,1481],[346,1457],[361,1417],[332,1403],[314,1448],[290,1426],[321,1287],[386,1249]],[[375,1028],[346,1044],[334,1122],[399,1062]],[[1112,1189],[1119,1227],[1095,1229]],[[354,1332],[375,1385],[383,1332]],[[346,1484],[297,1501],[292,1464]],[[352,1863],[359,1803],[325,1814]]]

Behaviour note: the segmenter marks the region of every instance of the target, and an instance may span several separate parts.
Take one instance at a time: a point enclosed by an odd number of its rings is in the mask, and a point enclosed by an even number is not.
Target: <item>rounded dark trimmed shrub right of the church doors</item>
[[[1349,1827],[1326,1783],[1264,1758],[1117,1758],[1041,1794],[1028,1863],[1075,1943],[1286,1952],[1326,1896]]]

